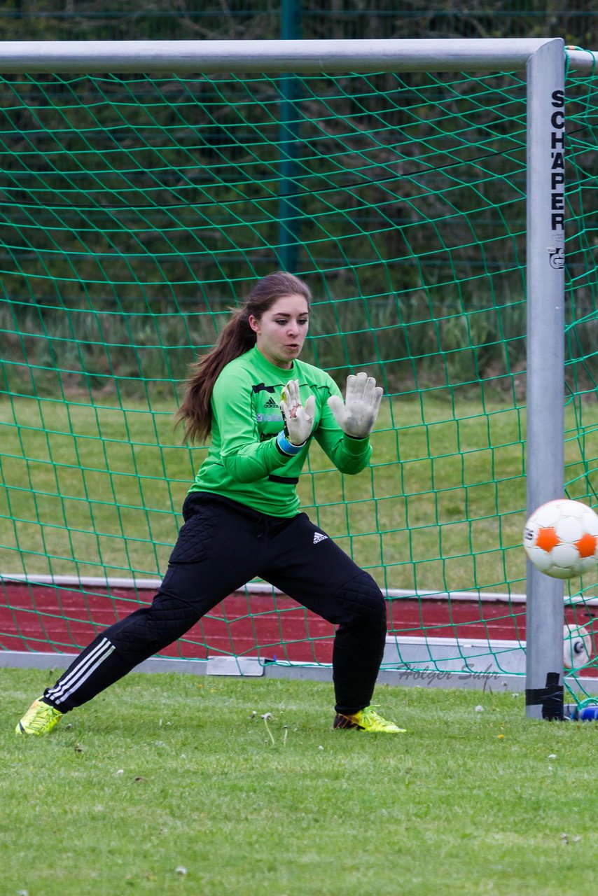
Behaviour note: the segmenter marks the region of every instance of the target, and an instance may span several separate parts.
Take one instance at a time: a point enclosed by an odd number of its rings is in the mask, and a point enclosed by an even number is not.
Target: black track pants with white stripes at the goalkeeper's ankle
[[[81,706],[259,576],[338,626],[336,711],[367,706],[386,637],[386,606],[372,577],[305,513],[281,519],[198,493],[187,496],[183,516],[185,525],[151,606],[98,635],[44,699],[62,712]]]

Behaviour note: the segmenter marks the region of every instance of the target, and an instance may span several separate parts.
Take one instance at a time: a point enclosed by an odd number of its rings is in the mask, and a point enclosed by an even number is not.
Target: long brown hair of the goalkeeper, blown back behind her
[[[258,280],[240,308],[231,308],[232,317],[207,355],[189,367],[186,391],[176,414],[177,424],[185,425],[186,442],[204,442],[212,432],[212,391],[222,367],[244,355],[256,344],[256,333],[249,325],[253,315],[261,320],[283,296],[303,296],[311,301],[311,293],[303,280],[285,271],[274,271]]]

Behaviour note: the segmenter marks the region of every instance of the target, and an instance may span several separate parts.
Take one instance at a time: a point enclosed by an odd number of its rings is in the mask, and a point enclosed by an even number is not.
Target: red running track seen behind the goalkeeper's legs
[[[0,589],[0,650],[77,653],[96,633],[151,603],[153,591],[85,589],[4,582]],[[592,611],[567,608],[567,621],[592,631]],[[525,639],[525,605],[502,601],[388,601],[389,632],[398,636]],[[334,626],[288,597],[231,594],[185,638],[160,656],[209,654],[329,663]],[[594,635],[595,647],[595,635]]]

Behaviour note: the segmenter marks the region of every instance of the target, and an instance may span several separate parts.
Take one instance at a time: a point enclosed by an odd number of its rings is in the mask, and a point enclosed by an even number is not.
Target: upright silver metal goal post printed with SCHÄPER
[[[565,65],[562,42],[527,62],[527,510],[565,488]],[[563,716],[563,583],[528,561],[527,715]]]

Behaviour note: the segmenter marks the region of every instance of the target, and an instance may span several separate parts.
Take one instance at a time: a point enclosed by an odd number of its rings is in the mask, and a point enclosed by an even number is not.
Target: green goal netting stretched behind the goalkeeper
[[[568,77],[567,480],[594,505],[597,87]],[[371,469],[315,448],[299,492],[387,591],[386,665],[523,671],[525,111],[509,73],[4,77],[4,650],[151,599],[205,451],[173,431],[186,366],[286,266],[304,357],[385,387]],[[260,588],[165,652],[328,662],[330,627]],[[595,596],[566,610],[593,641]]]

